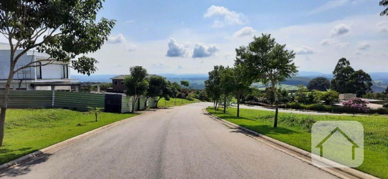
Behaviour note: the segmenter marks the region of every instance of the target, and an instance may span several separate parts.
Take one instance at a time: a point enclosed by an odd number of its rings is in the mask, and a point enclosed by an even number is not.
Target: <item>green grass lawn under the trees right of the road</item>
[[[318,120],[355,120],[364,126],[364,163],[355,168],[377,177],[388,179],[388,116],[382,115],[305,115],[279,113],[278,127],[274,128],[274,112],[228,108],[227,113],[206,109],[229,122],[246,127],[284,143],[311,151],[311,126]]]

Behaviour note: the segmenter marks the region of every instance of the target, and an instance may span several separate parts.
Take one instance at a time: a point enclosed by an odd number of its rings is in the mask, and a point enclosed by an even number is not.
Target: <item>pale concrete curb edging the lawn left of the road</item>
[[[56,143],[54,145],[48,146],[48,147],[43,148],[41,150],[35,151],[33,153],[24,155],[23,157],[16,158],[15,160],[12,160],[10,162],[7,162],[5,164],[0,165],[0,172],[2,172],[4,170],[12,169],[13,167],[16,167],[17,165],[22,164],[26,160],[35,158],[35,157],[37,157],[37,156],[39,156],[39,155],[41,155],[43,153],[54,153],[55,151],[58,151],[58,150],[61,150],[63,148],[66,148],[66,147],[68,147],[70,145],[73,145],[74,143],[77,143],[77,142],[79,142],[79,141],[81,141],[81,140],[83,140],[83,139],[85,139],[85,138],[87,138],[89,136],[92,136],[92,135],[97,134],[97,133],[99,133],[101,131],[104,131],[105,129],[108,129],[110,127],[116,126],[116,125],[121,124],[123,122],[126,122],[128,120],[135,119],[135,118],[140,117],[140,116],[142,116],[144,114],[147,114],[149,112],[152,112],[152,111],[142,112],[139,115],[136,115],[136,116],[133,116],[133,117],[130,117],[130,118],[127,118],[127,119],[119,120],[119,121],[113,122],[111,124],[107,124],[105,126],[97,128],[97,129],[93,129],[92,131],[88,131],[86,133],[80,134],[80,135],[75,136],[73,138],[66,139],[66,140],[64,140],[62,142],[59,142],[59,143]]]

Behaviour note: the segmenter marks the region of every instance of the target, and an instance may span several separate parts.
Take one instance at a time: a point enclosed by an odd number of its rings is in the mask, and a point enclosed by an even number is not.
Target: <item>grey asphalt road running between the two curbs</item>
[[[336,178],[203,114],[160,109],[42,155],[1,178]]]

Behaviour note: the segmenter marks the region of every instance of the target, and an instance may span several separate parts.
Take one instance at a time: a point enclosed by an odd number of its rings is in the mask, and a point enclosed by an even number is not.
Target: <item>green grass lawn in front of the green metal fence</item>
[[[8,109],[0,164],[137,114],[94,114],[67,109]]]

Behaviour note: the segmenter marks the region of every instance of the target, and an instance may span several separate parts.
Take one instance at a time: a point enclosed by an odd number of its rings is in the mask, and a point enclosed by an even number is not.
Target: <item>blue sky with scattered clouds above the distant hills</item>
[[[388,72],[388,17],[379,0],[107,0],[100,17],[116,19],[97,74],[207,73],[233,65],[235,48],[270,33],[296,53],[300,71],[330,73],[341,57],[356,70]]]

